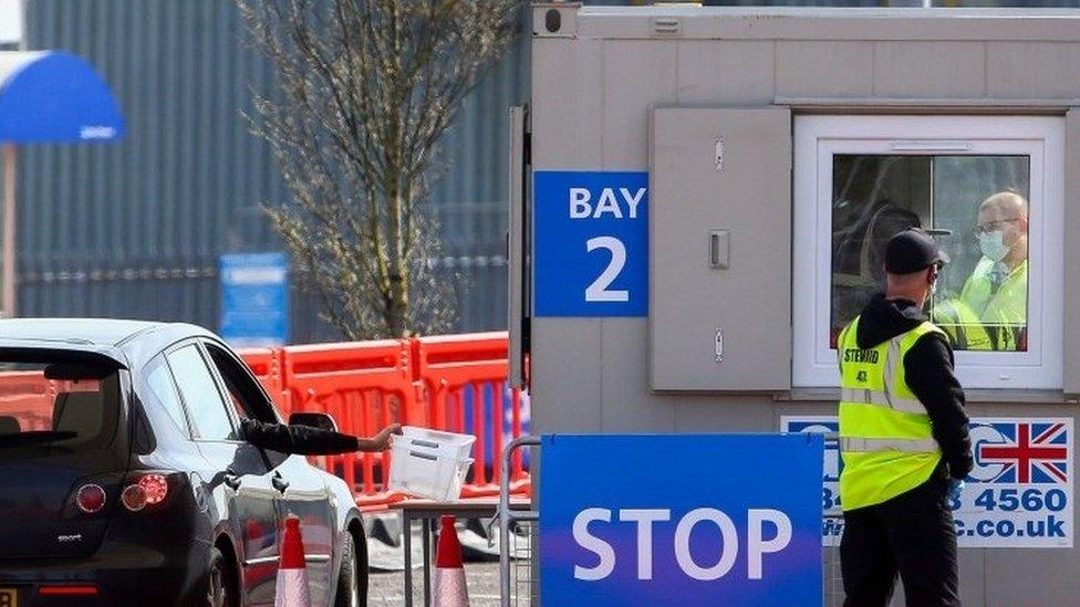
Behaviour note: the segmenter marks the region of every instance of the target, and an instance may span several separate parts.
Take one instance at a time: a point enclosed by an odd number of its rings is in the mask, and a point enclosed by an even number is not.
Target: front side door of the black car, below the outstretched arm
[[[236,411],[241,417],[279,423],[273,405],[247,366],[224,344],[206,341],[205,346]],[[279,515],[282,520],[289,515],[300,519],[312,603],[330,605],[336,506],[323,473],[303,456],[262,452],[270,464],[271,482],[279,490]]]

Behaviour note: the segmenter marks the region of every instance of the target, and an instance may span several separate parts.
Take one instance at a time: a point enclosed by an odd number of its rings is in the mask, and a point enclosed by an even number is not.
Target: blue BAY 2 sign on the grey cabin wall
[[[537,316],[648,315],[648,174],[533,176]]]

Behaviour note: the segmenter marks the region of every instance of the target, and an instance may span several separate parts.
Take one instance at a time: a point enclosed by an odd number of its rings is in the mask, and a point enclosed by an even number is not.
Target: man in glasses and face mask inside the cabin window
[[[975,228],[983,258],[960,291],[996,350],[1024,349],[1028,311],[1028,202],[1012,191],[979,205]]]

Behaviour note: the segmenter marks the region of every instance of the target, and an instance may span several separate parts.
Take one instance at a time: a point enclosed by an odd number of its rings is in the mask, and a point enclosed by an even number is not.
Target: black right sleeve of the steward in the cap
[[[953,348],[941,335],[925,335],[904,356],[904,373],[907,386],[930,414],[949,475],[963,479],[972,471],[972,439],[964,388],[953,373]]]

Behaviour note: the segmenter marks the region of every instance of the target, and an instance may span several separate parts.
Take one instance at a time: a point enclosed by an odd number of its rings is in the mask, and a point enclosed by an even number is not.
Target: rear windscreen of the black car
[[[113,443],[116,367],[71,352],[0,354],[0,458],[86,451]]]

